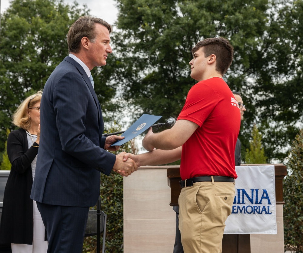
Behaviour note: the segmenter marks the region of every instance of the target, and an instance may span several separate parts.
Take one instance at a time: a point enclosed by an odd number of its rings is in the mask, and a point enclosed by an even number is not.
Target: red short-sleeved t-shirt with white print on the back
[[[182,147],[182,180],[199,176],[237,178],[235,146],[240,109],[223,79],[214,77],[195,84],[177,120],[199,125]]]

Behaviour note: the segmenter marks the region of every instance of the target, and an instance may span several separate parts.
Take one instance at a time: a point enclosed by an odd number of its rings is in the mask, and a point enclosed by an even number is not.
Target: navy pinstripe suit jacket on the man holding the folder
[[[109,175],[116,158],[103,149],[100,103],[84,69],[71,57],[49,76],[40,108],[41,137],[31,198],[52,205],[94,206],[100,172]]]

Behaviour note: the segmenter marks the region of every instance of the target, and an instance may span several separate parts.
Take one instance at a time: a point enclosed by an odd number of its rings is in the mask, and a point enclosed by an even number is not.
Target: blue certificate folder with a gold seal
[[[135,123],[133,123],[128,130],[121,134],[125,138],[123,140],[118,140],[111,146],[121,146],[122,144],[132,140],[139,134],[147,130],[152,124],[159,120],[162,116],[155,116],[149,114],[143,114]],[[110,147],[111,147],[110,146]]]

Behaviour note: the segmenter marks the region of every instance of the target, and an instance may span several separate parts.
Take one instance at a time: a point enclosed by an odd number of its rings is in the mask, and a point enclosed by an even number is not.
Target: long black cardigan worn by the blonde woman
[[[34,146],[38,146],[37,143]],[[26,132],[20,128],[8,135],[7,154],[12,164],[3,197],[0,243],[33,243],[33,201],[31,163],[37,147],[28,149]]]

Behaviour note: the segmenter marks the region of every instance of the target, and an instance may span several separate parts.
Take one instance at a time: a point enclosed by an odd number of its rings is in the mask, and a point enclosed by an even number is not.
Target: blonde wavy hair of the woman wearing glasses
[[[32,127],[31,119],[27,115],[28,108],[34,106],[35,103],[40,102],[42,97],[42,91],[39,90],[32,96],[27,97],[18,107],[13,115],[13,123],[15,126],[28,130]]]

